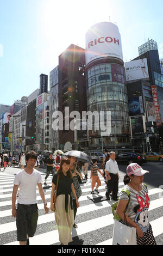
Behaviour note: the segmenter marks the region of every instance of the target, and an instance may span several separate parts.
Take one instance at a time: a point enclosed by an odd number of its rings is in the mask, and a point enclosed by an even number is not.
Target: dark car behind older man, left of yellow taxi
[[[147,162],[147,157],[138,153],[120,153],[116,155],[117,163],[138,163],[142,165]]]

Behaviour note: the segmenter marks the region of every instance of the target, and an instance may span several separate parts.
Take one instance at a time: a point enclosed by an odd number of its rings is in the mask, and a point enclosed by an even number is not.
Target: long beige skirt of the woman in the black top
[[[60,194],[55,203],[55,222],[57,223],[59,241],[64,245],[72,242],[71,229],[74,223],[73,210],[68,195],[67,212],[65,210],[65,194]]]

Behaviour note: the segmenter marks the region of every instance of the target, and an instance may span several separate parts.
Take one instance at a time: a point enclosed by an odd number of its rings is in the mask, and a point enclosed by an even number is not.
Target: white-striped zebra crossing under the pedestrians
[[[0,245],[18,245],[16,236],[16,221],[12,218],[12,188],[14,174],[18,168],[7,168],[0,173]],[[46,172],[42,171],[44,181]],[[124,173],[120,172],[123,177]],[[112,201],[105,199],[105,182],[100,177],[102,185],[99,187],[99,194],[91,194],[91,183],[82,184],[82,196],[79,198],[80,207],[77,210],[77,229],[72,228],[74,244],[79,245],[111,245],[112,231],[114,226],[113,215],[111,213]],[[123,180],[123,179],[122,179]],[[119,182],[119,190],[124,186],[122,180]],[[52,176],[47,179],[47,184],[51,186]],[[49,213],[45,215],[43,203],[37,190],[37,206],[39,208],[39,219],[34,237],[30,238],[30,245],[59,245],[58,229],[55,224],[54,213],[50,210],[51,188],[45,187],[45,197],[48,202]],[[163,197],[161,188],[148,188],[151,204],[149,206],[149,221],[153,228],[153,233],[159,245],[163,235]],[[150,218],[151,216],[151,218]],[[73,245],[73,243],[72,243]]]

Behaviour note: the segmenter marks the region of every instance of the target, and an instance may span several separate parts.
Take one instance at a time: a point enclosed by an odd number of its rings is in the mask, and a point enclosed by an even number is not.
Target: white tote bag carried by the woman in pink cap
[[[115,220],[112,245],[136,245],[136,228]]]

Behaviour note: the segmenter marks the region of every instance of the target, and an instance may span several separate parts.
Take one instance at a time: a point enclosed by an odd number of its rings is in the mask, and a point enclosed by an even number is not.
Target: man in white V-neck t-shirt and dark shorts
[[[26,154],[27,166],[15,175],[12,192],[12,217],[16,218],[17,241],[20,245],[29,245],[29,237],[33,237],[37,228],[39,217],[36,199],[36,187],[39,188],[43,200],[45,213],[48,213],[45,193],[42,188],[42,176],[34,169],[37,161],[37,154],[30,151]],[[16,209],[16,194],[20,187]]]

